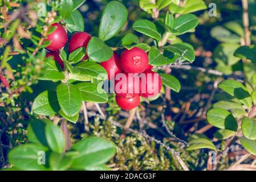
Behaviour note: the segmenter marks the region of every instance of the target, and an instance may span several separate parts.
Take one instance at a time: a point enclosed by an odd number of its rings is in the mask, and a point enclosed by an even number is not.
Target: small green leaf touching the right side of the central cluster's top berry
[[[161,66],[168,64],[168,61],[155,46],[152,46],[149,50],[148,59],[150,65]]]

